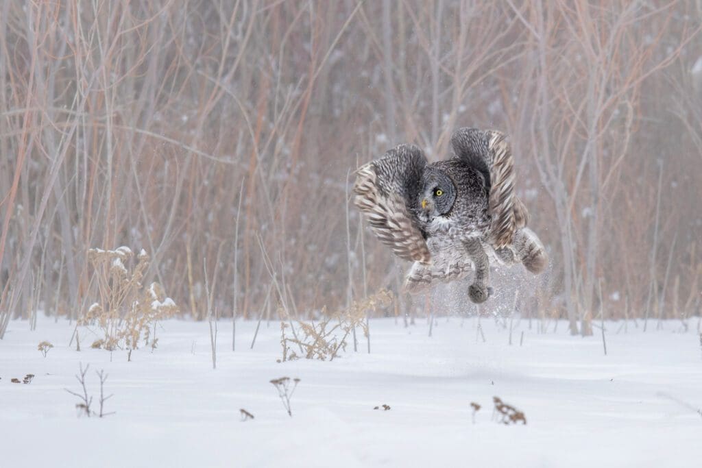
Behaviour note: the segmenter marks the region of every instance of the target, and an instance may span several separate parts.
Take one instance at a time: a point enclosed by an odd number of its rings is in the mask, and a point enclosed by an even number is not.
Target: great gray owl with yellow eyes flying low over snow
[[[514,194],[514,161],[503,133],[461,128],[451,136],[450,159],[429,164],[421,149],[399,145],[358,169],[354,203],[378,239],[414,261],[406,289],[461,279],[475,265],[470,300],[491,288],[488,255],[534,274],[548,263],[528,229],[529,213]]]

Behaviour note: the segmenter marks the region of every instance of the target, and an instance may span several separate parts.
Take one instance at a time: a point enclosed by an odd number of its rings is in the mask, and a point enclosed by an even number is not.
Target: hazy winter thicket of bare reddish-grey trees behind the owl
[[[147,250],[194,319],[397,293],[407,265],[364,232],[350,173],[399,142],[443,158],[459,126],[510,135],[550,253],[548,274],[496,280],[522,314],[584,334],[600,310],[699,315],[701,18],[699,0],[2,0],[0,337],[86,313],[89,248]]]

